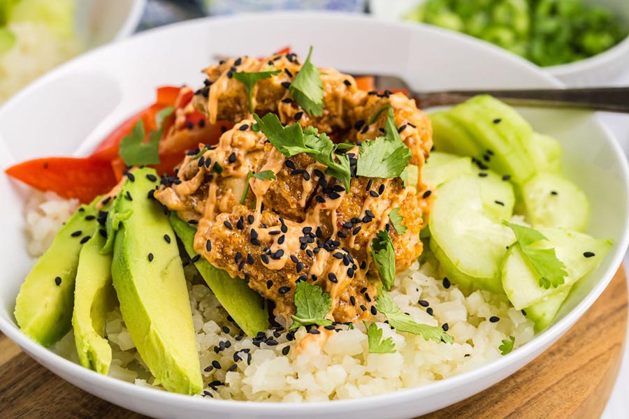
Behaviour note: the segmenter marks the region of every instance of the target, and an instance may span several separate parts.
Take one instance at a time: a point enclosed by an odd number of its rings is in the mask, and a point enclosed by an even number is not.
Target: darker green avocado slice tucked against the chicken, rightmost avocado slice
[[[194,251],[196,229],[189,226],[174,212],[171,213],[170,221],[188,255],[191,258],[196,256]],[[194,266],[217,300],[247,335],[255,336],[257,332],[269,328],[268,311],[266,311],[263,298],[249,288],[245,281],[230,277],[227,272],[218,269],[205,258],[197,260]]]

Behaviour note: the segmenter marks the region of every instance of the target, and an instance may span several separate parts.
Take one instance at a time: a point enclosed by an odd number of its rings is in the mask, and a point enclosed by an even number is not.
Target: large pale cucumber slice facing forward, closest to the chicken
[[[503,293],[500,265],[515,237],[486,211],[482,180],[459,177],[438,189],[429,221],[431,249],[447,276],[463,288]]]

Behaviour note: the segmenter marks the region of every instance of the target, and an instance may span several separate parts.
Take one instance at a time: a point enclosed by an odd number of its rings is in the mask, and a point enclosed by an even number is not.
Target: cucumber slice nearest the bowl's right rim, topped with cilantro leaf
[[[511,247],[502,268],[503,288],[513,307],[518,310],[545,302],[558,291],[572,286],[597,267],[612,247],[612,242],[609,240],[598,240],[583,233],[559,228],[538,228],[538,230],[548,239],[547,242],[540,242],[540,244],[544,248],[555,249],[557,258],[565,265],[567,277],[558,288],[540,287],[540,275],[524,258],[519,247]],[[586,252],[593,253],[593,256],[585,257]]]

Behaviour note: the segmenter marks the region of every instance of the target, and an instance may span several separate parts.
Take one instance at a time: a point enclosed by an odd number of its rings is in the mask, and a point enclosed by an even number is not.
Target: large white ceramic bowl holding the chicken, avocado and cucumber
[[[116,124],[152,102],[159,84],[201,84],[215,54],[268,54],[284,45],[304,54],[315,46],[320,66],[396,73],[417,89],[556,87],[523,59],[449,31],[368,17],[280,13],[203,19],[140,34],[75,59],[34,82],[0,109],[0,168],[36,156],[85,153]],[[159,418],[409,418],[465,399],[540,355],[605,289],[628,244],[628,168],[614,138],[589,112],[527,110],[544,133],[561,140],[565,171],[592,203],[589,232],[614,247],[577,287],[557,321],[496,362],[419,388],[338,402],[277,404],[187,397],[101,376],[22,334],[13,307],[33,260],[24,251],[26,191],[0,175],[0,330],[37,362],[78,387]],[[507,378],[508,379],[508,378]],[[569,397],[569,395],[567,395]]]

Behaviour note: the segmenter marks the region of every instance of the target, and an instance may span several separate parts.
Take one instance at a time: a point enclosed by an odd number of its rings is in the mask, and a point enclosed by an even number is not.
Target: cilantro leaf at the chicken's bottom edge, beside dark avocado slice
[[[332,309],[330,293],[324,293],[320,286],[308,284],[305,281],[298,282],[295,289],[295,307],[297,313],[291,316],[293,324],[289,330],[303,325],[331,325],[326,315]]]

